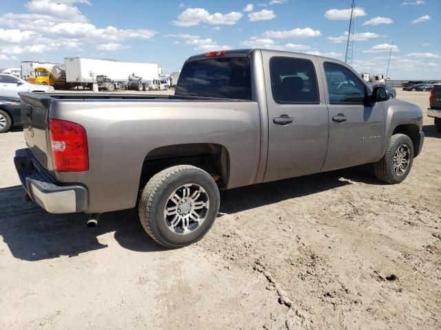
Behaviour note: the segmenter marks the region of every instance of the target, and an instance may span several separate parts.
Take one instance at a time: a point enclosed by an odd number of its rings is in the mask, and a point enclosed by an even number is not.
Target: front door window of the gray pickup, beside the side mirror
[[[365,85],[346,67],[325,63],[325,75],[331,104],[363,104]]]

